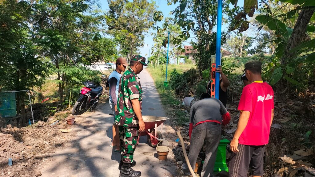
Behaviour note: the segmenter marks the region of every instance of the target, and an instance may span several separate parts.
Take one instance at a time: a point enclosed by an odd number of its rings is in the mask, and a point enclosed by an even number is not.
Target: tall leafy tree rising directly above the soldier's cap
[[[107,33],[118,41],[120,52],[131,58],[137,48],[143,46],[144,33],[155,24],[153,14],[157,6],[147,0],[108,0],[108,5]]]

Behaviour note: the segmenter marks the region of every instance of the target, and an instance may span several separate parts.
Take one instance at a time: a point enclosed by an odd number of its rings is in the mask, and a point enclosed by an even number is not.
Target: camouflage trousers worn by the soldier
[[[118,126],[120,153],[123,163],[132,163],[138,141],[138,127]]]

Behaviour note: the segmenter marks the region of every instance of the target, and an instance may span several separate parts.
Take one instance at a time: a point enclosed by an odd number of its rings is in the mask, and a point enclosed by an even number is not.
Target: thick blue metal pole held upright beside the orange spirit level
[[[221,65],[221,25],[222,25],[222,0],[218,0],[217,36],[215,47],[215,65]],[[220,73],[215,73],[215,98],[219,99]]]

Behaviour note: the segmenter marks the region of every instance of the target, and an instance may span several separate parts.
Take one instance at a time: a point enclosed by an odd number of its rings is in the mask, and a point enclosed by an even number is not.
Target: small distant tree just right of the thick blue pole
[[[231,50],[235,56],[242,57],[246,54],[249,47],[252,46],[254,41],[253,37],[247,36],[247,34],[242,36],[233,36],[226,42],[226,48]]]

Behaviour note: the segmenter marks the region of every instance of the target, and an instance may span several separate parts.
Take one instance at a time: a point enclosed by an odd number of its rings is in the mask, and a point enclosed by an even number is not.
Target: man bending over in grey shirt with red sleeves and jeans
[[[230,122],[230,114],[216,98],[211,98],[209,93],[203,93],[200,100],[195,102],[190,109],[189,138],[190,149],[188,154],[192,169],[198,154],[206,142],[206,157],[204,159],[201,177],[213,176],[216,152],[221,140],[222,124]],[[190,174],[187,164],[182,165],[183,172]]]

